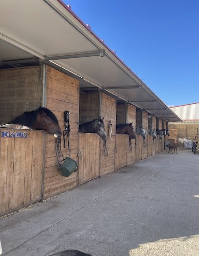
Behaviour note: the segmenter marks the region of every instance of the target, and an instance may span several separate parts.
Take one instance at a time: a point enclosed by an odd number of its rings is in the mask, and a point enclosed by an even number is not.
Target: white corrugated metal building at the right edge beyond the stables
[[[199,102],[170,107],[182,123],[199,123]]]

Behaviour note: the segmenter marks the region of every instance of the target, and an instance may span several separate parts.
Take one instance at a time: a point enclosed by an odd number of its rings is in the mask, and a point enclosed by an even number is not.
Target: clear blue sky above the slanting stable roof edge
[[[199,0],[64,0],[167,105],[199,102]]]

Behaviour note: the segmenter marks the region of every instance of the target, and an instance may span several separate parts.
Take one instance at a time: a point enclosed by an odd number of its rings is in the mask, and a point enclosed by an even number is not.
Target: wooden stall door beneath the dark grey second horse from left
[[[100,176],[100,140],[96,133],[79,134],[79,184]]]

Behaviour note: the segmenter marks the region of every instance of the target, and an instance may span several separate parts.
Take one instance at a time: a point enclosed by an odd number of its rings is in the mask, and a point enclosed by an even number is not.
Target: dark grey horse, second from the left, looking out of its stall
[[[104,128],[104,122],[101,116],[93,121],[83,123],[79,126],[79,133],[97,133],[102,140],[107,139],[106,131]]]

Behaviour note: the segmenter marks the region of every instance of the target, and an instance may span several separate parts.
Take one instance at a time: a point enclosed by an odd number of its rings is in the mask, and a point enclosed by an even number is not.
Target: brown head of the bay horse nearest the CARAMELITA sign
[[[57,117],[46,108],[39,108],[37,111],[36,122],[32,129],[44,130],[47,133],[54,134],[54,136],[61,136],[61,128]]]

